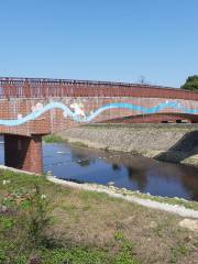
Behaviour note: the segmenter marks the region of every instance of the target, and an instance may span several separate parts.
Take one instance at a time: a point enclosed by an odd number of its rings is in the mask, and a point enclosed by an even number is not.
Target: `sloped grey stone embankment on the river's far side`
[[[91,124],[58,135],[88,147],[198,165],[197,124]]]

